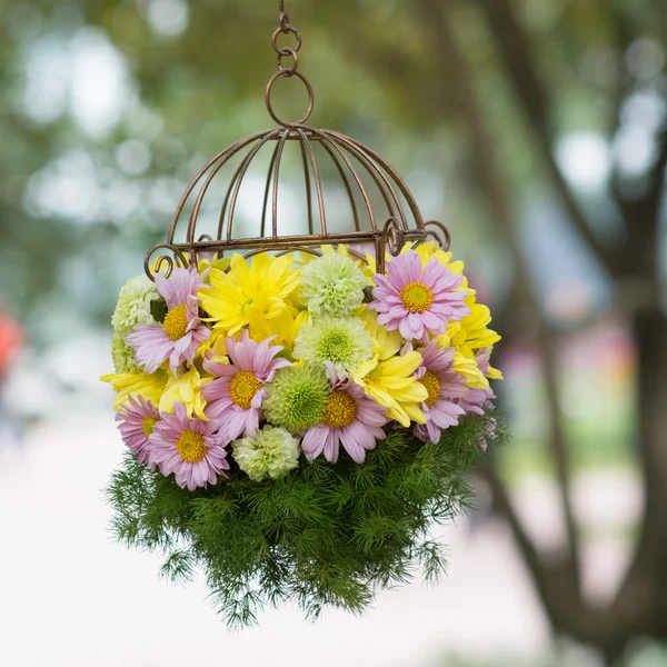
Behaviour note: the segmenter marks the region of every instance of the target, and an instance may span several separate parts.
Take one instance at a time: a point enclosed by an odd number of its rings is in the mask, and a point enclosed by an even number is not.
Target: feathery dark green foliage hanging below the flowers
[[[444,571],[429,528],[471,506],[467,471],[486,426],[467,418],[437,445],[392,431],[361,466],[302,460],[278,480],[232,467],[193,492],[128,454],[107,489],[113,528],[128,546],[161,551],[166,577],[189,580],[201,568],[231,627],[288,599],[310,618],[327,605],[360,614],[377,589]]]

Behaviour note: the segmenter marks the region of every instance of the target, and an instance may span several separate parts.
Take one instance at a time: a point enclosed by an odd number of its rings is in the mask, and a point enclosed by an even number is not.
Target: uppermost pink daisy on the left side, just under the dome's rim
[[[197,347],[211,335],[199,319],[197,291],[205,285],[197,267],[177,267],[169,279],[156,276],[156,287],[168,308],[165,322],[137,325],[126,339],[146,372],[155,372],[167,359],[173,374],[185,360],[192,364]]]

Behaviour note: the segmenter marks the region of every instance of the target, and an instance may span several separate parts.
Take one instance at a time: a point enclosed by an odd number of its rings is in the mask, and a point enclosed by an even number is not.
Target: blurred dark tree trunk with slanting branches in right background
[[[530,34],[528,12],[556,12],[548,32]],[[486,19],[485,29],[499,62],[480,62],[461,39],[457,26],[462,3],[424,0],[425,24],[432,33],[439,56],[442,86],[456,98],[468,121],[471,155],[478,182],[489,206],[489,216],[508,241],[515,267],[514,292],[501,330],[506,345],[527,337],[536,344],[548,396],[548,445],[560,488],[567,527],[565,549],[538,549],[517,514],[496,468],[487,470],[496,500],[509,520],[545,610],[556,631],[598,647],[609,663],[621,659],[637,636],[667,639],[667,318],[661,290],[664,267],[661,233],[667,166],[665,120],[665,50],[667,7],[661,2],[579,3],[512,2],[478,0],[476,9]],[[590,32],[588,32],[590,31]],[[611,59],[610,81],[596,77],[586,81],[584,59],[593,49],[606,50]],[[559,60],[559,69],[554,60]],[[479,80],[492,67],[514,96],[537,166],[577,229],[581,242],[615,282],[617,307],[627,318],[637,354],[637,425],[635,442],[645,486],[645,507],[635,556],[614,600],[604,607],[586,599],[581,586],[581,540],[571,502],[571,460],[564,425],[558,374],[558,330],[544,316],[534,280],[527,268],[511,191],[498,139],[492,109],[480,94]],[[549,71],[551,70],[551,71]],[[608,181],[607,206],[587,210],[556,160],[557,141],[567,129],[564,97],[580,87],[594,98],[603,92],[608,118],[608,145],[615,160]],[[658,119],[654,127],[643,115],[633,118],[633,104],[655,96]],[[635,126],[629,128],[628,126]],[[625,136],[636,130],[635,141],[648,135],[649,153],[640,169],[628,169]],[[625,150],[625,155],[624,155]],[[635,143],[630,152],[640,151]],[[625,160],[625,163],[624,163]],[[610,218],[610,221],[604,218]],[[620,222],[620,225],[618,225]]]

